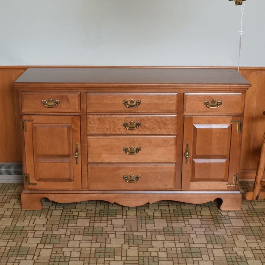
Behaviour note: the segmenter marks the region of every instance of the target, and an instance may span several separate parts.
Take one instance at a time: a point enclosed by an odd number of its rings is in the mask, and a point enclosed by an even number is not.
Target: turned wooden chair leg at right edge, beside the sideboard
[[[257,200],[265,198],[265,191],[262,191],[265,187],[265,182],[262,181],[263,173],[265,168],[265,133],[263,135],[263,142],[260,151],[260,160],[257,167],[257,172],[255,176],[255,182],[253,187],[253,192],[247,192],[245,194],[246,200]]]

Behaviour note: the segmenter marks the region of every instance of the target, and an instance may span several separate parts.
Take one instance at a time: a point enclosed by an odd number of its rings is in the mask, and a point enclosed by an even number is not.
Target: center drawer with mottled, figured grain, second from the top
[[[176,135],[176,115],[87,115],[88,134]]]

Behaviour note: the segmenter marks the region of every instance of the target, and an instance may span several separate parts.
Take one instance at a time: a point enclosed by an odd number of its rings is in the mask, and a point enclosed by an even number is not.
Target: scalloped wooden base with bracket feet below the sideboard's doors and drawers
[[[136,207],[146,203],[155,203],[157,201],[169,200],[179,201],[191,204],[204,204],[220,198],[223,202],[220,209],[223,211],[241,210],[242,194],[239,191],[234,192],[167,192],[167,193],[39,193],[23,191],[21,194],[22,209],[41,210],[41,199],[47,198],[57,203],[73,203],[81,201],[102,200],[110,203],[117,203],[122,206]]]

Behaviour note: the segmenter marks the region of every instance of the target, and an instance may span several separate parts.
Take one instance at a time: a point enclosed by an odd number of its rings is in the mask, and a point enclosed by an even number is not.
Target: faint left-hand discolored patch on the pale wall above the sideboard
[[[97,48],[106,42],[101,38],[102,27],[105,24],[102,5],[104,0],[83,0],[82,13],[78,23],[85,28],[85,39],[82,40],[83,48]]]

